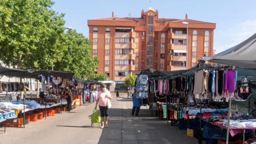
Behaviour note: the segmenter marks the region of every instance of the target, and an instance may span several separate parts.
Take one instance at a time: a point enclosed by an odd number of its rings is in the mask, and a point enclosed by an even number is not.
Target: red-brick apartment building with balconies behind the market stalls
[[[188,42],[187,25],[188,23]],[[153,68],[160,71],[185,69],[201,57],[213,55],[215,23],[158,17],[158,10],[140,17],[112,17],[88,20],[92,55],[99,57],[97,73],[109,80],[123,81],[125,76]]]

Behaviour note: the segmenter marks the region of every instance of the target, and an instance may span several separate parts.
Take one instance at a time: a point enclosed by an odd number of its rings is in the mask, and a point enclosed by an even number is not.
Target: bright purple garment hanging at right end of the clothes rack
[[[237,71],[227,71],[227,88],[228,91],[231,93],[231,97],[233,97],[233,92],[236,89],[236,73]]]

